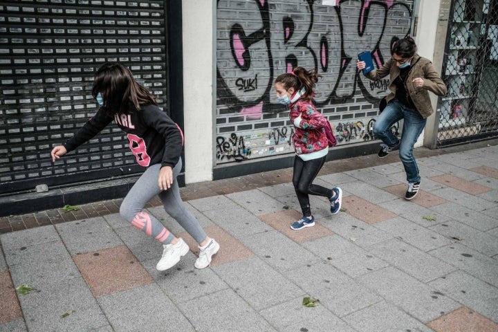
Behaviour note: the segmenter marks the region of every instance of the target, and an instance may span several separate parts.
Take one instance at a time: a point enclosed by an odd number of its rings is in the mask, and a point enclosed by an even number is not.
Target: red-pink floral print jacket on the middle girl
[[[299,99],[289,105],[291,122],[295,126],[293,135],[294,149],[297,155],[310,154],[328,148],[325,135],[326,118],[315,109],[313,102]],[[301,116],[299,127],[295,120]]]

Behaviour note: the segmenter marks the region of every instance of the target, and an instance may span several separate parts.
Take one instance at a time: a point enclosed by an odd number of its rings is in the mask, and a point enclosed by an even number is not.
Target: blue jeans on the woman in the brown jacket
[[[414,183],[421,181],[421,177],[413,155],[413,147],[418,136],[422,133],[427,119],[422,118],[416,109],[405,107],[398,100],[391,100],[374,124],[374,135],[389,147],[396,147],[399,140],[391,132],[391,126],[401,119],[403,119],[403,131],[401,132],[399,156],[405,167],[407,181]]]

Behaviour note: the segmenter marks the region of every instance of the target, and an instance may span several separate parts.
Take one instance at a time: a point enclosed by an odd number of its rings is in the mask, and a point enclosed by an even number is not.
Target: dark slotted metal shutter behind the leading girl
[[[115,125],[55,165],[49,153],[97,110],[91,86],[104,62],[127,64],[165,107],[164,3],[2,1],[0,194],[138,172]]]

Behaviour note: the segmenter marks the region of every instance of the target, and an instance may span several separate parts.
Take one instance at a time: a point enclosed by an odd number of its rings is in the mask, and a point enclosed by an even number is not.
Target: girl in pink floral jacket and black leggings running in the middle
[[[293,143],[295,159],[293,169],[293,185],[301,205],[303,216],[291,225],[293,230],[315,225],[311,214],[309,195],[326,196],[331,203],[331,212],[336,214],[342,202],[342,190],[339,187],[328,189],[314,185],[313,180],[325,163],[329,153],[328,140],[325,134],[326,118],[315,109],[312,102],[313,88],[318,77],[315,71],[306,71],[296,67],[291,73],[279,75],[275,80],[275,91],[279,103],[286,105],[290,111],[291,122],[295,133]]]

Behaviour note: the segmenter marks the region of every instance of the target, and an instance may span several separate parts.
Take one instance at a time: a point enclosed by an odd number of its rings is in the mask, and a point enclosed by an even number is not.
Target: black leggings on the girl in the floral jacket
[[[308,195],[325,196],[327,198],[333,196],[333,191],[331,189],[327,189],[321,185],[313,185],[313,180],[315,180],[324,163],[325,156],[308,161],[304,161],[299,158],[299,156],[295,156],[293,185],[297,195],[297,200],[299,201],[299,205],[301,205],[303,216],[311,216]]]

